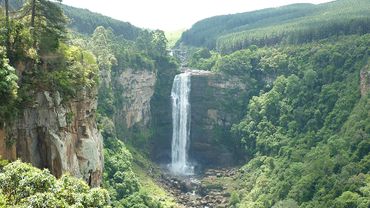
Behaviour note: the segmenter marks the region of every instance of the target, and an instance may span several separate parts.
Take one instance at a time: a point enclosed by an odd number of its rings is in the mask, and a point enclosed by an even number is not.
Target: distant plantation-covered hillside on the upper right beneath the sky
[[[230,53],[250,45],[307,43],[365,34],[370,31],[369,7],[367,0],[338,0],[211,17],[184,32],[179,43]]]

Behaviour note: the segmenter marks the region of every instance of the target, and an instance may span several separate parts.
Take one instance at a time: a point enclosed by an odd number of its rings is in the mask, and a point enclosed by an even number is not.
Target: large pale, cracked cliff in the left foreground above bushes
[[[103,171],[102,136],[95,122],[97,92],[82,90],[63,101],[59,93],[37,93],[15,123],[17,157],[59,177],[69,172],[99,186]]]

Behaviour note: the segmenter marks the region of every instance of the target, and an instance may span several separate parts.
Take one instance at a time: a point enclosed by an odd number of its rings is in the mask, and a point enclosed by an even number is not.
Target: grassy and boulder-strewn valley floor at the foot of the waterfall
[[[149,161],[130,148],[133,169],[141,185],[165,207],[216,208],[232,204],[238,187],[238,168],[208,169],[202,174],[180,177]]]

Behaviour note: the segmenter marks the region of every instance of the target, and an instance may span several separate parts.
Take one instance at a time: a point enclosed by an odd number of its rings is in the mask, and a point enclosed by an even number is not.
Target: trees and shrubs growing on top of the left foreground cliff
[[[22,80],[18,90],[18,103],[21,105],[18,107],[32,104],[32,95],[37,91],[59,91],[66,101],[83,89],[94,88],[98,82],[95,57],[88,51],[64,43],[66,18],[59,5],[47,0],[36,0],[35,5],[34,23],[32,1],[24,1],[22,7],[14,11],[14,15],[19,17],[11,17],[9,28],[5,24],[0,27],[1,31],[9,31],[0,36],[0,41],[7,40],[9,34],[7,54],[10,65],[17,67]],[[3,52],[1,59],[3,62]],[[15,80],[14,77],[7,79]],[[5,87],[2,89],[7,90]],[[10,98],[6,100],[13,102]],[[13,102],[12,106],[16,107],[18,103]]]

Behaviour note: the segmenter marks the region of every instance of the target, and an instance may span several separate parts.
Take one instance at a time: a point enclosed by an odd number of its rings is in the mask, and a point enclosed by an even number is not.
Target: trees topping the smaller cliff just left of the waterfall
[[[92,37],[85,40],[85,48],[98,59],[99,68],[112,75],[122,70],[155,70],[167,58],[167,40],[163,31],[142,30],[135,41],[116,36],[112,30],[98,27]]]

